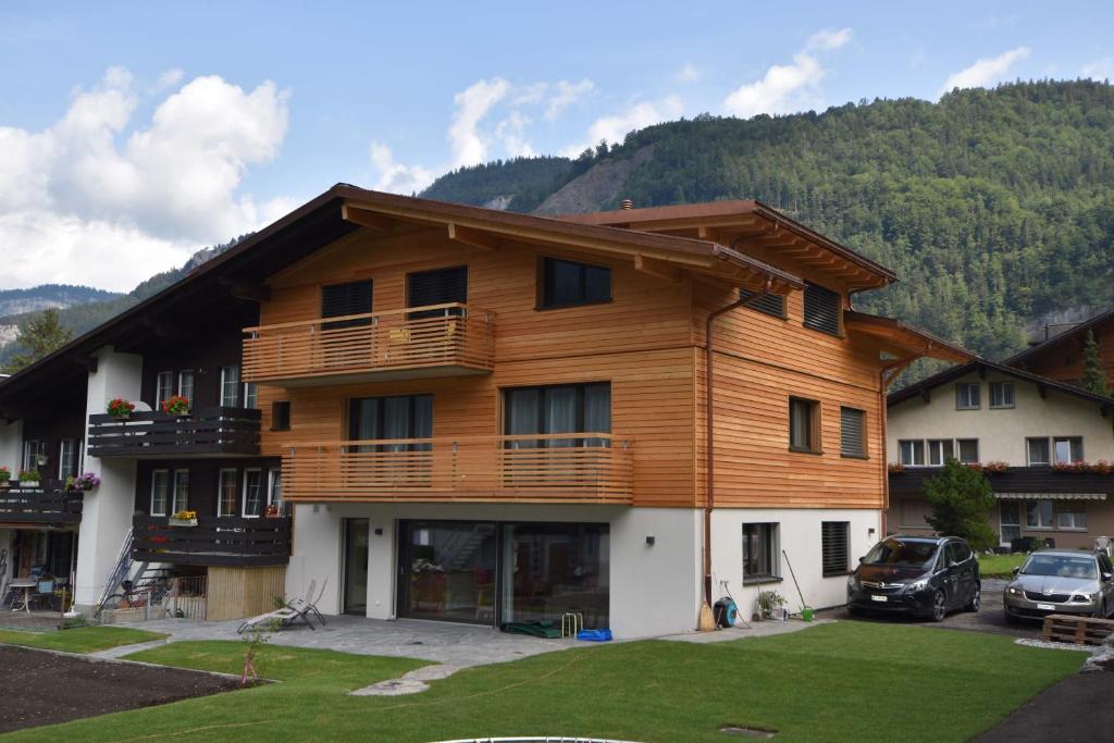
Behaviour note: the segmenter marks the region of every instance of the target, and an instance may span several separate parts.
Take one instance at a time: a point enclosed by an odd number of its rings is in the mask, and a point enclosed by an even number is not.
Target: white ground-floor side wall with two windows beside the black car
[[[801,599],[792,575],[804,595],[804,603],[814,609],[847,603],[847,576],[823,576],[821,563],[821,522],[850,524],[848,569],[879,540],[881,511],[862,509],[759,509],[717,508],[712,512],[712,593],[719,598],[734,596],[740,614],[750,620],[756,612],[755,600],[761,590],[775,590],[783,596],[791,612],[800,610]],[[775,565],[780,581],[743,585],[743,524],[776,524],[780,544],[775,547]],[[781,554],[784,549],[789,560]],[[793,574],[790,573],[792,565]]]

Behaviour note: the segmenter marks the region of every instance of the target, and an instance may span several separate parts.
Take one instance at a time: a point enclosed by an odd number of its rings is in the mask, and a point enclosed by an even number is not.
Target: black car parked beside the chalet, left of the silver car
[[[948,612],[978,612],[978,559],[958,537],[887,537],[847,579],[847,608],[899,612],[942,622]]]

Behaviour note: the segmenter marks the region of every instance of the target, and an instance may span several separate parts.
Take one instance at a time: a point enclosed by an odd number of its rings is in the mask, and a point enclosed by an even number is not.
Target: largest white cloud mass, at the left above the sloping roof
[[[130,289],[206,243],[255,229],[289,199],[238,194],[246,169],[275,157],[289,94],[201,77],[120,141],[139,102],[110,68],[41,131],[0,127],[0,245],[6,284]],[[12,255],[13,257],[8,257]]]

